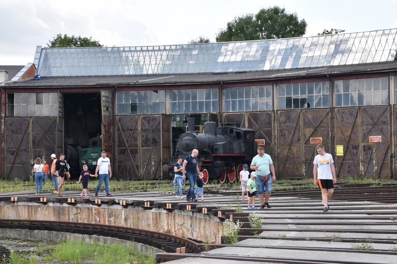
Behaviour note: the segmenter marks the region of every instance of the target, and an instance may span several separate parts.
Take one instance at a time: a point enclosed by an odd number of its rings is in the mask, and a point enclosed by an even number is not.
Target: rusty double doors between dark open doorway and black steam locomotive
[[[160,179],[162,177],[163,157],[167,156],[165,162],[168,162],[170,151],[169,119],[166,115],[116,117],[118,178]],[[162,120],[164,120],[164,131]],[[168,130],[165,129],[166,127]],[[163,141],[168,143],[163,145]]]

